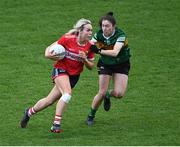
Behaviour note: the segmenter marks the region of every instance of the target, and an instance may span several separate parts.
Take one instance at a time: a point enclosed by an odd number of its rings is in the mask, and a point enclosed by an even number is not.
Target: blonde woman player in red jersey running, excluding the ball
[[[90,51],[92,45],[90,42],[91,36],[91,22],[82,18],[75,24],[72,30],[46,48],[45,57],[56,61],[52,72],[52,79],[55,85],[47,97],[40,99],[33,107],[25,110],[20,122],[22,128],[26,128],[33,114],[58,101],[51,132],[59,133],[62,131],[61,119],[65,107],[71,99],[72,88],[78,82],[83,66],[85,65],[88,69],[92,69],[94,66],[94,53]],[[49,51],[55,44],[61,44],[66,49],[65,58],[62,60],[58,60]]]

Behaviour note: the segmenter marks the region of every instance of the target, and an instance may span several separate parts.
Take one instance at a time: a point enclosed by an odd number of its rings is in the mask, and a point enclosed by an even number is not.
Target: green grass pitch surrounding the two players
[[[179,0],[1,0],[0,145],[180,145]],[[63,117],[62,134],[49,132],[55,104],[19,128],[25,107],[52,88],[52,62],[45,48],[79,18],[98,19],[113,11],[128,35],[131,71],[127,93],[112,109],[85,125],[98,90],[96,68],[85,70]],[[96,57],[97,61],[98,56]]]

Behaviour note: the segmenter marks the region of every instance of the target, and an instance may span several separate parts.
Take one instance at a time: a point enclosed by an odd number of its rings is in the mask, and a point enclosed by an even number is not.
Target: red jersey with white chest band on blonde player
[[[80,45],[77,42],[77,36],[71,34],[63,35],[58,41],[66,49],[66,56],[62,60],[54,64],[55,68],[66,70],[69,75],[79,75],[83,71],[83,59],[79,56],[79,51],[84,51],[87,59],[94,60],[94,53],[90,52],[92,43],[89,41],[85,45]]]

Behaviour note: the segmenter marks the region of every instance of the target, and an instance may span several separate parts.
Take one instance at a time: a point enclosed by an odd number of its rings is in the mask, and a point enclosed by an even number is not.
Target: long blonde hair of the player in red
[[[67,34],[75,34],[78,35],[79,31],[83,30],[84,25],[91,24],[91,21],[88,19],[81,18],[76,22],[73,26],[73,29],[69,30]]]

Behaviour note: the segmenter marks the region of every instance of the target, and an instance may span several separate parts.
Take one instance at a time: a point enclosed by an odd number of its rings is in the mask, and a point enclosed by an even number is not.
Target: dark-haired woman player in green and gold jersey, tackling
[[[94,53],[100,54],[97,64],[99,74],[99,91],[95,95],[86,123],[92,125],[96,111],[104,100],[104,109],[109,111],[110,97],[122,98],[128,84],[130,70],[130,48],[125,33],[116,27],[113,12],[107,13],[99,20],[100,30],[94,34],[91,48]],[[113,80],[113,89],[108,91],[110,80]]]

